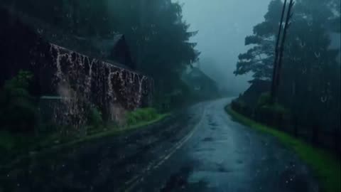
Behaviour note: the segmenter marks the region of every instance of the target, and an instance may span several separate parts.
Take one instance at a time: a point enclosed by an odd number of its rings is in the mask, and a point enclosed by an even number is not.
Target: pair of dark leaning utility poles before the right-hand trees
[[[282,10],[282,15],[281,15],[281,23],[279,25],[279,31],[278,31],[278,36],[276,40],[274,71],[273,71],[273,76],[272,76],[272,81],[271,81],[271,103],[276,102],[278,85],[279,85],[279,80],[281,76],[281,65],[282,65],[282,60],[283,60],[284,44],[286,42],[286,34],[288,32],[288,28],[291,25],[290,20],[293,16],[292,9],[293,9],[293,5],[295,4],[295,2],[293,0],[290,0],[289,2],[288,11],[286,14],[286,23],[283,28],[283,17],[286,11],[286,4],[287,4],[287,0],[284,0],[283,10]],[[282,29],[283,29],[283,36],[281,36]],[[280,40],[281,40],[281,44],[280,44]]]

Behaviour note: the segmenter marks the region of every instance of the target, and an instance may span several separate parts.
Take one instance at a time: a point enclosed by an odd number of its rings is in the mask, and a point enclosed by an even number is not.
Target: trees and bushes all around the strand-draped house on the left
[[[101,43],[97,46],[110,50],[113,38],[123,34],[134,63],[131,70],[148,75],[154,81],[152,106],[126,112],[124,124],[107,122],[99,107],[92,106],[86,112],[85,129],[88,135],[84,137],[77,133],[69,137],[60,133],[67,132],[70,127],[41,122],[38,105],[42,95],[36,95],[32,91],[35,87],[31,85],[35,74],[21,70],[0,85],[0,151],[4,154],[16,155],[16,152],[25,151],[28,147],[48,147],[55,140],[58,144],[70,142],[75,139],[74,136],[76,139],[86,139],[101,132],[102,135],[117,134],[116,131],[121,131],[117,127],[130,129],[146,126],[167,117],[168,112],[178,107],[202,99],[200,95],[193,94],[182,80],[183,72],[198,60],[200,53],[195,50],[196,43],[190,42],[197,31],[189,31],[189,24],[183,21],[182,7],[178,3],[171,0],[0,2],[0,8],[13,15],[12,20],[6,22],[23,22],[38,35],[46,31],[43,40],[53,40],[51,42],[57,45],[62,43],[63,46],[69,38],[78,38],[95,40]],[[115,129],[110,131],[109,128]],[[51,134],[47,130],[54,131]]]

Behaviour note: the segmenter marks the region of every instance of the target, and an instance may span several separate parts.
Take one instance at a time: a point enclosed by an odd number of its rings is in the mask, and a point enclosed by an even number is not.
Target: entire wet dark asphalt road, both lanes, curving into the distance
[[[0,170],[2,191],[319,191],[309,169],[268,135],[202,102],[119,137],[30,156]]]

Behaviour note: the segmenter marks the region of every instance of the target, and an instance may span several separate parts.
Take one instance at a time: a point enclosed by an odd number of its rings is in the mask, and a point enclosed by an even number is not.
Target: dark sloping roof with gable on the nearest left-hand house
[[[96,36],[75,36],[69,31],[43,23],[37,18],[32,18],[22,13],[17,14],[23,23],[31,26],[36,33],[49,43],[74,50],[77,53],[104,60],[107,63],[114,63],[123,68],[135,69],[131,52],[123,34],[114,33],[107,38]]]

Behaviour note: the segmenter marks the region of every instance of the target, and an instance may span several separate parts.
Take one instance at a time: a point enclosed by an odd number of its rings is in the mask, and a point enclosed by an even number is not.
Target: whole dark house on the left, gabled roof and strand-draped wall
[[[124,35],[80,37],[1,7],[0,23],[0,87],[16,75],[29,79],[39,124],[78,130],[92,107],[120,122],[151,104],[153,79],[131,70]]]

